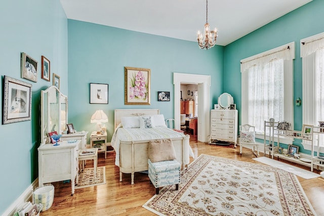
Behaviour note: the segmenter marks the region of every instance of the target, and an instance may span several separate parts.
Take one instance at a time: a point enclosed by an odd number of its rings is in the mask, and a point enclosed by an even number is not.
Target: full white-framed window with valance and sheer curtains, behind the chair
[[[292,42],[241,60],[241,124],[255,126],[257,138],[263,139],[264,121],[269,118],[286,120],[294,125],[294,58],[295,44]],[[285,140],[283,143],[291,141]]]

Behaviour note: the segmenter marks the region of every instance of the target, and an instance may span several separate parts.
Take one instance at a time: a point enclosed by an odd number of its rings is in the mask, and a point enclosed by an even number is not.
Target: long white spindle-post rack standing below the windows
[[[294,158],[293,156],[288,156],[287,149],[284,149],[282,153],[278,153],[278,147],[280,145],[280,137],[287,137],[292,139],[302,139],[302,140],[308,140],[313,143],[313,133],[311,134],[305,134],[300,131],[287,131],[287,130],[281,130],[277,129],[279,122],[264,122],[264,153],[269,152],[269,155],[274,159],[274,157],[277,157],[277,159],[282,158],[291,162],[295,162],[298,164],[302,164],[305,166],[310,167],[311,171],[313,170],[313,157],[311,157],[311,162],[304,162],[298,158]],[[269,139],[266,139],[266,128],[269,128]],[[323,131],[324,132],[324,131]],[[277,142],[274,141],[274,138],[277,137]],[[267,143],[268,141],[268,143]],[[313,146],[313,145],[312,145]],[[312,147],[313,149],[313,147]],[[312,154],[313,155],[313,154]],[[323,158],[324,161],[324,158]]]

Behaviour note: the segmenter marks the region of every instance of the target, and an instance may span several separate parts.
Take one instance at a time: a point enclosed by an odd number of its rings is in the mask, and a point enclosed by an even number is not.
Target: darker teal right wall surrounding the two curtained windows
[[[240,60],[271,50],[295,41],[294,60],[294,100],[302,99],[302,59],[300,58],[300,39],[324,32],[324,1],[313,0],[307,5],[280,17],[256,31],[232,42],[225,47],[224,91],[233,95],[236,109],[241,116],[241,74]],[[302,99],[303,102],[303,99]],[[294,101],[292,101],[294,103]],[[294,103],[295,104],[295,103]],[[302,128],[302,106],[294,106],[294,128]],[[295,144],[300,143],[296,140]],[[300,151],[303,150],[299,145]]]

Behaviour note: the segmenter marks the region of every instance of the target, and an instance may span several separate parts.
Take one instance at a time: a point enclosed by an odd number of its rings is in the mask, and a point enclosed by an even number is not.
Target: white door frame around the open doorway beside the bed
[[[197,140],[208,142],[210,133],[210,75],[173,73],[174,84],[174,119],[175,128],[180,129],[180,84],[181,82],[198,84],[198,132]],[[202,90],[202,92],[200,91]]]

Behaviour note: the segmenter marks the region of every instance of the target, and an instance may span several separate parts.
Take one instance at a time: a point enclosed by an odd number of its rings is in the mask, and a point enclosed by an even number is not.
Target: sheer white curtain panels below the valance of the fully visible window
[[[264,120],[284,119],[284,60],[250,67],[248,82],[248,123],[263,133]]]

